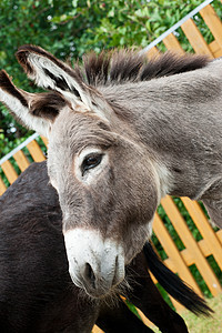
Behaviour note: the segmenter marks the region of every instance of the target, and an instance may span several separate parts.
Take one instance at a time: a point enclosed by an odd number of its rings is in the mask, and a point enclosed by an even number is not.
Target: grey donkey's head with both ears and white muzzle
[[[160,200],[155,162],[132,125],[78,69],[33,46],[21,47],[17,57],[28,77],[50,92],[24,92],[1,71],[0,100],[48,137],[70,275],[91,296],[104,295],[124,279],[124,265],[149,236]]]

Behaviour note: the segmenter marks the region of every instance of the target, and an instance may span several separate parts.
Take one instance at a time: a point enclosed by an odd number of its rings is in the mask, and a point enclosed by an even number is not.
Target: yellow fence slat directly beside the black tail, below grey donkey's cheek
[[[179,275],[188,284],[190,284],[199,295],[201,295],[202,293],[201,293],[201,290],[200,290],[198,283],[195,282],[195,280],[194,280],[193,275],[191,274],[189,268],[184,263],[180,251],[175,246],[175,244],[172,241],[167,228],[164,226],[162,220],[160,219],[160,216],[158,214],[155,214],[155,218],[154,218],[153,231],[157,234],[160,243],[162,244],[165,253],[173,261]]]

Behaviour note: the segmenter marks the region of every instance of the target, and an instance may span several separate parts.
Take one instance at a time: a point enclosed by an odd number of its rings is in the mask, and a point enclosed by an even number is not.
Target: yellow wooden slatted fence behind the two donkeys
[[[222,57],[222,23],[213,7],[208,4],[212,1],[205,2],[206,6],[200,10],[200,14],[214,37],[214,40],[210,44],[205,42],[190,16],[183,19],[181,24],[178,24],[176,28],[181,27],[194,52],[208,54],[211,58]],[[180,53],[184,52],[175,36],[176,33],[172,32],[172,29],[167,31],[162,39],[159,38],[159,43],[155,42],[154,46],[151,43],[151,47],[148,47],[149,50],[145,50],[148,51],[148,57],[159,53],[158,48],[160,43],[164,43],[169,50],[174,50]],[[46,144],[47,141],[44,138],[40,139],[37,134],[34,134],[18,149],[13,150],[10,154],[0,160],[0,195],[6,191],[7,186],[18,178],[18,174],[24,171],[32,161],[40,162],[46,159],[42,152],[42,148],[46,148]],[[179,250],[171,233],[169,232],[169,228],[165,226],[165,223],[161,220],[157,212],[153,230],[167,253],[168,259],[165,259],[164,262],[173,272],[176,272],[201,295],[202,291],[200,285],[190,270],[191,265],[195,265],[209,291],[213,296],[215,296],[222,291],[220,283],[220,275],[222,272],[222,230],[215,232],[212,229],[208,218],[198,202],[191,201],[188,198],[181,198],[181,202],[184,204],[186,212],[190,214],[190,218],[195,224],[199,235],[201,235],[201,240],[196,241],[193,238],[193,234],[174,200],[170,196],[165,196],[161,201],[162,210],[164,210],[167,216],[170,219],[171,226],[174,228],[174,231],[178,233],[184,249],[181,251]],[[211,256],[211,259],[213,258],[214,262],[218,264],[218,275],[209,263],[209,256]],[[171,301],[176,310],[181,310],[182,306],[178,302],[173,299],[171,299]],[[143,321],[147,324],[150,324],[140,311],[139,313]],[[102,331],[94,327],[93,332]]]

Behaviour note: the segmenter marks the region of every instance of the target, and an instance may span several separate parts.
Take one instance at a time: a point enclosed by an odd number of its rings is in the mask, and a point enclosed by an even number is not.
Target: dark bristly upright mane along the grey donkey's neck
[[[85,83],[98,87],[173,75],[203,68],[209,62],[205,56],[180,56],[168,51],[148,60],[145,54],[134,50],[114,50],[84,56],[83,64],[75,67],[75,73]]]

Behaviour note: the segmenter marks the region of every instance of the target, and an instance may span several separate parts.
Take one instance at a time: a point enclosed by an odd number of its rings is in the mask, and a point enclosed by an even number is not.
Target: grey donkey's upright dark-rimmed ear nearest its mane
[[[89,88],[67,63],[36,46],[20,47],[17,59],[37,85],[61,92],[72,104],[91,108]]]

